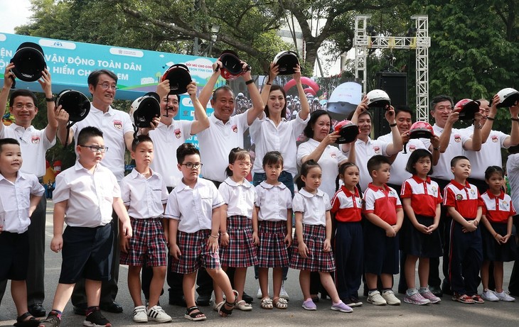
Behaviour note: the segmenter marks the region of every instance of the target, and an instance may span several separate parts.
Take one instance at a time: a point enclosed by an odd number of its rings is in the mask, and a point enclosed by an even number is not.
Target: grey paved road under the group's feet
[[[50,244],[52,237],[52,204],[48,203],[46,242]],[[46,251],[46,295],[44,303],[46,309],[50,309],[53,294],[60,273],[61,255]],[[508,279],[512,265],[505,263],[505,289],[508,287]],[[112,322],[112,326],[137,325],[132,321],[133,303],[127,289],[127,267],[122,266],[119,276],[119,294],[117,301],[124,307],[122,314],[108,314],[105,316]],[[397,280],[397,277],[395,277]],[[166,285],[167,287],[167,285]],[[245,292],[256,294],[257,282],[254,280],[254,272],[249,270]],[[414,306],[402,303],[401,306],[373,306],[366,303],[365,297],[361,297],[364,305],[355,308],[352,314],[343,314],[331,311],[331,301],[321,300],[317,304],[317,311],[305,311],[301,308],[302,294],[299,289],[298,272],[289,271],[289,279],[286,284],[287,292],[291,296],[287,310],[263,310],[260,301],[255,300],[254,309],[250,312],[235,310],[232,316],[220,318],[210,307],[201,307],[208,316],[203,323],[205,326],[518,326],[519,325],[519,301],[514,303],[486,303],[486,304],[460,304],[451,301],[449,297],[443,297],[441,304],[428,306]],[[9,287],[8,287],[9,288]],[[402,295],[398,295],[402,299]],[[194,326],[196,323],[183,318],[184,310],[178,306],[168,305],[167,295],[161,296],[164,309],[173,317],[171,323],[148,323],[146,326]],[[403,301],[402,301],[403,302]],[[4,296],[0,306],[0,326],[12,326],[16,316],[11,293],[9,290]],[[76,316],[72,311],[72,304],[68,304],[63,315],[61,326],[82,326],[83,317]]]

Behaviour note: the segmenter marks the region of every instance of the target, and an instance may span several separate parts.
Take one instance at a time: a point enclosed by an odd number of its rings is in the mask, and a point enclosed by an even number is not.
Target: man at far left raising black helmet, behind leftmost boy
[[[0,93],[0,116],[4,116],[7,96],[13,84],[14,77],[11,70],[14,64],[7,65],[4,72],[4,87]],[[10,126],[0,123],[0,138],[14,138],[18,140],[23,157],[21,172],[35,174],[41,180],[46,172],[45,155],[48,149],[56,143],[56,130],[58,122],[55,120],[55,104],[52,94],[50,73],[44,70],[41,79],[38,79],[41,89],[45,93],[47,105],[47,126],[42,130],[34,128],[33,119],[38,113],[38,103],[33,92],[26,89],[18,89],[11,94],[9,99],[9,111],[15,118]],[[42,182],[42,181],[41,181]],[[29,265],[27,272],[27,304],[29,312],[33,316],[46,315],[43,309],[45,299],[45,221],[47,202],[42,196],[36,210],[31,215],[29,235]],[[4,296],[7,281],[0,282],[0,301]]]

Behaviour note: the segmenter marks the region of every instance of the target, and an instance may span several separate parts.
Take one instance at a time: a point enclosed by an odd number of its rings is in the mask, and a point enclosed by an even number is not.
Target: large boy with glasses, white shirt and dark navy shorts
[[[110,279],[113,239],[112,209],[121,221],[125,238],[132,226],[121,199],[114,174],[99,165],[107,148],[103,133],[95,127],[83,128],[75,148],[79,160],[56,176],[54,235],[50,250],[63,250],[59,284],[53,309],[40,327],[60,326],[61,315],[75,283],[85,278],[87,312],[85,326],[111,326],[100,311],[101,283]],[[67,224],[63,232],[63,222]]]

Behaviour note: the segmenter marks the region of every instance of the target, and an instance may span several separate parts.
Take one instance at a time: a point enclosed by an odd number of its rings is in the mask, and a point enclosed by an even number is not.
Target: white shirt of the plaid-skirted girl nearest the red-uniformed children
[[[321,189],[317,189],[316,194],[300,189],[292,200],[292,210],[303,214],[303,223],[306,225],[326,226],[326,211],[330,209],[330,198]]]

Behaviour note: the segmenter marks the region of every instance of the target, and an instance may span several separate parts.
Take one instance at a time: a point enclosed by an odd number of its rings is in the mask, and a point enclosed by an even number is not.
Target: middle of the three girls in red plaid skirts
[[[288,247],[292,243],[292,196],[288,187],[277,179],[283,170],[283,157],[277,151],[263,157],[263,170],[267,180],[257,185],[256,212],[258,217],[260,247],[258,272],[262,291],[263,309],[287,309],[286,299],[279,297],[283,268],[289,266]],[[272,267],[274,297],[269,298],[269,267]]]

